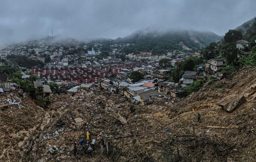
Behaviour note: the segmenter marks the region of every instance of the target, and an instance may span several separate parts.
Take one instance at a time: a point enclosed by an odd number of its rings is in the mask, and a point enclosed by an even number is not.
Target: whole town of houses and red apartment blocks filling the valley
[[[236,47],[243,49],[248,47],[248,42],[239,40],[236,42]],[[130,44],[129,44],[130,45]],[[125,46],[129,46],[125,45]],[[94,45],[95,47],[97,44]],[[98,44],[98,46],[101,46]],[[119,45],[113,45],[117,49]],[[87,49],[87,46],[83,46]],[[9,48],[10,49],[10,48]],[[30,51],[29,45],[25,47],[15,47],[17,53],[22,52],[22,49]],[[48,45],[41,45],[38,49],[34,48],[35,53],[38,53],[37,58],[42,59],[44,53],[50,51],[50,64],[44,67],[33,67],[31,72],[40,77],[39,80],[33,82],[35,89],[43,85],[43,91],[36,90],[37,93],[50,94],[51,90],[48,83],[56,82],[61,88],[65,89],[68,94],[74,94],[79,89],[105,89],[113,93],[122,93],[129,98],[131,102],[145,104],[153,97],[163,97],[169,95],[173,98],[182,93],[181,87],[187,87],[197,80],[205,79],[206,73],[219,75],[219,72],[226,66],[223,58],[214,58],[208,60],[205,67],[198,66],[197,71],[185,71],[179,83],[173,83],[169,77],[170,72],[176,68],[179,62],[184,61],[191,56],[200,57],[199,53],[176,53],[176,51],[168,52],[164,55],[153,56],[152,52],[141,52],[137,55],[130,53],[126,57],[129,60],[121,62],[120,59],[115,58],[114,55],[109,55],[108,58],[98,60],[95,55],[100,54],[100,51],[87,51],[84,54],[65,55],[65,58],[59,59],[63,52],[63,47],[52,48]],[[69,48],[68,50],[72,50]],[[8,51],[8,49],[7,49]],[[117,50],[113,49],[113,53]],[[3,51],[1,52],[3,53]],[[8,53],[8,52],[7,52]],[[79,62],[80,58],[85,61]],[[158,61],[162,58],[170,58],[169,62],[172,68],[159,69]],[[145,59],[142,62],[137,60]],[[145,74],[144,79],[133,83],[130,79],[132,71],[140,71]],[[10,79],[11,76],[7,74],[0,75],[0,82]]]

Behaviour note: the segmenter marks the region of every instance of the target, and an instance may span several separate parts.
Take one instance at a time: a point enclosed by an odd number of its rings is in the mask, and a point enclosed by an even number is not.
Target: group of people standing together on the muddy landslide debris
[[[85,139],[82,138],[79,140],[80,151],[82,151],[84,145],[86,145],[88,147],[87,149],[85,149],[86,154],[89,154],[90,156],[92,156],[92,152],[93,152],[93,150],[95,150],[96,143],[100,143],[100,150],[103,153],[104,139],[102,137],[100,137],[99,134],[97,136],[97,141],[95,139],[91,139],[91,133],[89,132],[89,130],[87,130]],[[76,156],[77,147],[78,147],[78,143],[74,142],[74,156]]]

